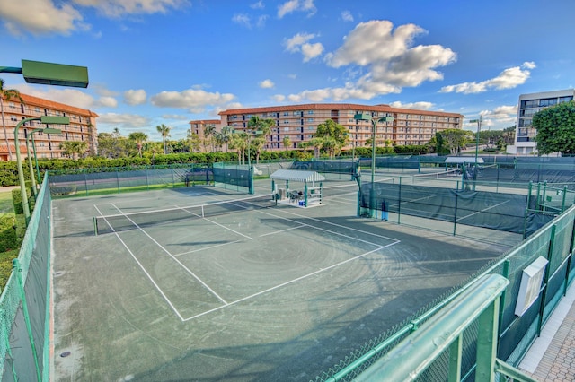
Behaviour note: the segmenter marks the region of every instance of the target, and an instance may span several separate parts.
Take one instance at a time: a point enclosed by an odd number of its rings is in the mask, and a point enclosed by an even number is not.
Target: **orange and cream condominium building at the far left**
[[[51,100],[43,100],[27,94],[20,94],[22,101],[12,97],[3,99],[3,118],[0,120],[0,161],[15,161],[14,129],[16,124],[26,118],[41,116],[62,116],[70,118],[70,125],[50,125],[62,130],[62,134],[33,135],[38,158],[63,158],[60,143],[65,141],[84,141],[87,152],[97,152],[96,118],[98,115],[91,110],[75,108]],[[5,127],[5,128],[4,128]],[[43,128],[40,121],[29,121],[18,129],[18,141],[22,157],[26,157],[26,138],[32,130]]]

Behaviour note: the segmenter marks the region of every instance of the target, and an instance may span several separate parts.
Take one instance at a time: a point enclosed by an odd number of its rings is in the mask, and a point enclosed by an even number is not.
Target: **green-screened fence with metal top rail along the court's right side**
[[[403,325],[389,333],[366,343],[365,346],[349,354],[348,358],[341,360],[331,369],[327,369],[314,380],[316,382],[340,381],[358,378],[378,359],[399,346],[398,343],[406,338],[411,338],[413,334],[417,334],[422,325],[427,322],[438,321],[437,314],[439,311],[446,313],[447,310],[448,312],[450,308],[447,305],[451,301],[473,288],[473,285],[487,274],[499,274],[509,280],[509,286],[501,295],[500,308],[497,312],[499,331],[495,341],[497,358],[502,360],[496,362],[496,369],[508,375],[506,373],[512,372],[513,367],[517,367],[529,346],[535,342],[553,309],[565,295],[573,277],[575,277],[575,262],[572,261],[575,243],[574,221],[575,206],[571,206],[565,213],[547,223],[534,235],[501,256],[500,259],[486,265],[447,298],[440,300],[426,312],[406,320]],[[548,261],[544,268],[543,282],[533,305],[519,317],[515,311],[523,271],[539,256]],[[462,337],[464,343],[473,343],[478,330],[476,324],[468,326]],[[462,353],[461,380],[473,378],[477,368],[475,351],[469,346],[466,348],[468,351]],[[419,352],[417,349],[413,352],[403,352],[404,360],[411,359],[417,352]],[[450,375],[449,362],[449,353],[444,352],[442,356],[439,356],[429,365],[422,380],[447,380]]]

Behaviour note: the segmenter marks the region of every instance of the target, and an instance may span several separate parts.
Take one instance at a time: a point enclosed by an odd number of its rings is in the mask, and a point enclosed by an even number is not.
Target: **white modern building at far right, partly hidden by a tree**
[[[519,107],[517,108],[517,126],[515,134],[515,145],[508,146],[509,153],[512,154],[534,154],[537,150],[535,143],[536,131],[533,128],[533,116],[541,110],[573,100],[575,90],[565,91],[544,91],[539,93],[521,94],[519,96]]]

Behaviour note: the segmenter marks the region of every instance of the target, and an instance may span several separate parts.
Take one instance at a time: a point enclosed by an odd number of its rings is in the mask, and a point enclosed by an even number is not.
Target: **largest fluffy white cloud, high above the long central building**
[[[290,94],[288,100],[371,100],[379,95],[400,93],[406,86],[441,80],[443,74],[436,69],[455,62],[456,54],[440,45],[413,46],[414,39],[425,32],[414,24],[394,29],[388,21],[359,23],[343,39],[340,48],[324,56],[327,65],[348,66],[349,80],[341,87]],[[305,44],[311,45],[307,41],[314,37],[297,34],[285,40],[284,45],[290,52],[300,51]],[[318,50],[308,49],[310,55],[312,52],[318,54]]]

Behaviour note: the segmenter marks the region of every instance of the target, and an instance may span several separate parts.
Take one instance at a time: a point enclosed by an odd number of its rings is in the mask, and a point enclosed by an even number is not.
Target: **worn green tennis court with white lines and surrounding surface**
[[[358,218],[351,185],[308,209],[269,181],[54,201],[52,379],[310,380],[507,248]]]

